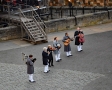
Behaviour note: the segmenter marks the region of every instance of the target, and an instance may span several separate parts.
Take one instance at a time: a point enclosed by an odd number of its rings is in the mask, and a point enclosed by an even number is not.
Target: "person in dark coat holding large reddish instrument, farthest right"
[[[75,45],[77,45],[77,50],[78,52],[83,51],[82,45],[84,43],[84,33],[81,31],[80,27],[77,27],[77,31],[74,33],[74,38],[75,38]]]

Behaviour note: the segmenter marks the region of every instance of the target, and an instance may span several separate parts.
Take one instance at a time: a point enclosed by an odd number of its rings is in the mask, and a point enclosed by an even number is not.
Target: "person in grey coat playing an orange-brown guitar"
[[[69,37],[68,33],[65,33],[65,36],[63,37],[62,41],[64,43],[64,51],[66,52],[66,56],[72,56],[70,41],[73,41],[73,39]]]

